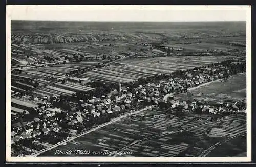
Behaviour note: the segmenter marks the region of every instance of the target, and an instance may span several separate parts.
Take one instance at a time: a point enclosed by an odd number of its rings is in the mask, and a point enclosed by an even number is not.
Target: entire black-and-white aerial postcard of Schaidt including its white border
[[[6,161],[250,161],[250,10],[7,6]]]

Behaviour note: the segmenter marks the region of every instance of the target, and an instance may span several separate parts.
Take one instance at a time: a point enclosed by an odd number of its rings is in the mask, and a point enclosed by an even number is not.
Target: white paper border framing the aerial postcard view
[[[78,10],[84,6],[7,6],[6,10],[6,161],[7,162],[249,162],[251,161],[251,7],[250,6],[86,6],[86,10],[246,10],[247,63],[247,157],[11,157],[11,20],[18,8],[26,12],[41,10]],[[26,14],[21,17],[26,20]],[[94,20],[97,21],[97,20]]]

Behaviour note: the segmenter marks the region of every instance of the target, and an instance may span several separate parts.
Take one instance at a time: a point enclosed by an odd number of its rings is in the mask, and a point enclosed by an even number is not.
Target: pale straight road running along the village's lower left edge
[[[141,109],[141,110],[135,111],[134,113],[138,113],[138,112],[141,112],[141,111],[144,111],[144,110],[147,110],[147,109],[151,109],[152,107],[153,107],[153,106],[145,107],[145,108],[143,108],[143,109]],[[122,115],[122,116],[120,116],[120,117],[114,118],[114,119],[111,120],[110,122],[107,122],[107,123],[98,125],[98,126],[92,128],[92,129],[90,129],[90,130],[88,130],[88,131],[85,131],[85,132],[83,132],[83,133],[81,133],[81,134],[79,134],[79,135],[77,135],[77,136],[74,136],[74,137],[68,138],[68,139],[66,139],[66,140],[63,140],[63,141],[59,142],[58,144],[56,144],[56,145],[54,145],[54,146],[52,146],[52,147],[45,148],[45,149],[43,149],[43,150],[40,150],[40,151],[38,151],[38,152],[36,152],[36,153],[34,153],[34,154],[31,154],[31,155],[28,155],[28,156],[38,156],[38,155],[40,155],[41,153],[44,153],[44,152],[49,151],[49,150],[51,150],[51,149],[54,149],[54,148],[56,148],[56,147],[58,147],[58,146],[60,146],[60,145],[66,144],[67,142],[70,142],[70,141],[72,141],[72,140],[74,140],[74,139],[76,139],[76,138],[78,138],[78,137],[81,137],[81,136],[83,136],[83,135],[85,135],[85,134],[88,134],[88,133],[91,133],[91,132],[93,132],[93,131],[96,131],[96,130],[98,130],[98,129],[104,127],[104,126],[107,126],[107,125],[110,125],[110,124],[112,124],[112,123],[114,123],[114,122],[117,122],[117,121],[121,120],[122,118],[127,117],[127,115],[129,115],[129,114],[131,114],[131,113],[126,113],[126,114],[124,114],[124,115]]]

